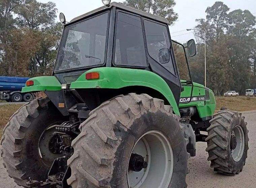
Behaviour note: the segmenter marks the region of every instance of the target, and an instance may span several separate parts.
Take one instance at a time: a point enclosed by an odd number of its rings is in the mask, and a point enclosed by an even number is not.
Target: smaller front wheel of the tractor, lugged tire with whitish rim
[[[222,110],[214,115],[210,124],[205,141],[211,167],[221,174],[239,174],[249,149],[245,118],[241,113]]]

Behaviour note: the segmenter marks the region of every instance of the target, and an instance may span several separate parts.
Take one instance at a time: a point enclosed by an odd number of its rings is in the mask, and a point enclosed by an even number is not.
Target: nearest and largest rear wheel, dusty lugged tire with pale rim
[[[147,94],[118,96],[93,110],[79,129],[68,159],[72,188],[187,186],[186,141],[179,117],[163,100]],[[134,154],[148,167],[131,170]]]

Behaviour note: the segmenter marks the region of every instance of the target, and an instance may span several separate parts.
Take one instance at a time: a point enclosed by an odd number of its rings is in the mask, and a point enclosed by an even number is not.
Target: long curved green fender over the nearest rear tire
[[[91,72],[98,72],[100,78],[86,80],[85,75]],[[180,115],[177,103],[167,83],[160,76],[146,70],[116,67],[93,68],[82,74],[75,82],[72,82],[70,89],[119,89],[128,86],[145,86],[159,91],[171,104],[174,113]]]

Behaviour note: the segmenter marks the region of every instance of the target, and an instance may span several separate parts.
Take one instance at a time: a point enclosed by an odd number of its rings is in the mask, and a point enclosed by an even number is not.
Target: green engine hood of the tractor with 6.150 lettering
[[[193,97],[196,96],[205,96],[205,87],[198,83],[193,83],[194,89],[193,89]],[[181,93],[182,97],[190,97],[191,94],[191,86],[183,85],[184,91]],[[205,101],[195,101],[190,102],[188,104],[180,103],[179,108],[182,107],[188,107],[188,106],[196,106],[198,114],[200,118],[204,118],[207,116],[212,116],[214,114],[215,108],[216,108],[216,101],[213,94],[213,91],[209,89],[210,93],[210,99]]]

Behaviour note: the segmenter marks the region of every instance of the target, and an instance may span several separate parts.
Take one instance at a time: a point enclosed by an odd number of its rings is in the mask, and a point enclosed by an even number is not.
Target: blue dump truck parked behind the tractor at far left
[[[7,102],[29,102],[33,96],[31,93],[21,93],[29,78],[0,76],[0,100]]]

